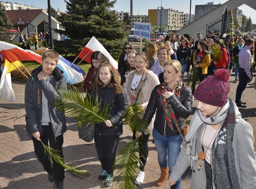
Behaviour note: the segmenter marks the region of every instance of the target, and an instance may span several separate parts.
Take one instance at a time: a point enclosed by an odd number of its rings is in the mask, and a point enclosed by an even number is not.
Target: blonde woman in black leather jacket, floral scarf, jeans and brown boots
[[[162,186],[167,180],[168,166],[169,172],[172,172],[182,142],[179,130],[183,133],[185,118],[192,112],[192,91],[184,85],[180,75],[179,61],[171,60],[164,63],[164,82],[153,89],[144,114],[145,120],[150,123],[156,111],[153,139],[161,169],[157,186]],[[181,178],[172,188],[180,189],[180,186]]]

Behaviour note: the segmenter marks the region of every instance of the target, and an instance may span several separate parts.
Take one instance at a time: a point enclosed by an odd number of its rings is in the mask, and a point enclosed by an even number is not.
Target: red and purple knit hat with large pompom
[[[230,74],[226,69],[217,69],[213,76],[208,76],[196,88],[194,97],[213,106],[222,107],[228,100]]]

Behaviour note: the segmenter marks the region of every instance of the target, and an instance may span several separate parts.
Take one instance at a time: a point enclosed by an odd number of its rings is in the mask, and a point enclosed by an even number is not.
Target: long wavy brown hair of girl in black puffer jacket
[[[108,67],[110,73],[112,74],[110,82],[107,84],[110,87],[115,88],[115,94],[120,94],[123,91],[123,87],[120,85],[121,84],[121,76],[117,70],[114,70],[112,64],[109,61],[104,61],[100,64],[99,68],[97,69],[97,72],[95,73],[94,76],[92,76],[92,83],[91,83],[91,89],[94,92],[99,91],[99,87],[103,85],[102,81],[100,80],[99,77],[99,72],[101,67]]]

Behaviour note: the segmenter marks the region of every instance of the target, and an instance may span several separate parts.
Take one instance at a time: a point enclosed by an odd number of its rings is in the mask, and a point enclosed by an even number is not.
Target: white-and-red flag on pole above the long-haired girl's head
[[[102,52],[110,61],[110,63],[113,65],[114,68],[118,68],[118,63],[113,57],[108,53],[108,51],[101,45],[101,43],[93,36],[90,41],[85,45],[83,50],[79,53],[78,57],[80,59],[83,59],[87,54],[87,57],[85,57],[84,61],[87,61],[91,64],[91,56],[92,53],[95,51]]]

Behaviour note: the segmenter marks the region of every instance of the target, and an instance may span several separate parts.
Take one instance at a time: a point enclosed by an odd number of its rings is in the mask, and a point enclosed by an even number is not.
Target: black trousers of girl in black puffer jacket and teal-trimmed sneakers
[[[94,135],[94,142],[98,154],[98,158],[103,170],[106,170],[108,174],[113,174],[115,169],[115,157],[116,149],[119,143],[120,137],[113,136],[97,136]]]

